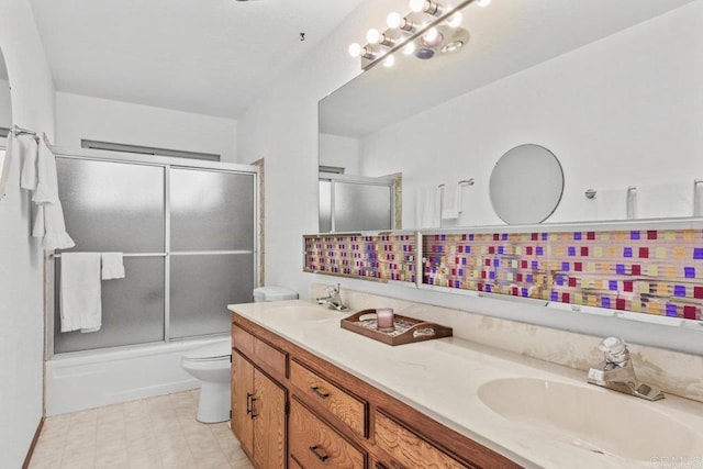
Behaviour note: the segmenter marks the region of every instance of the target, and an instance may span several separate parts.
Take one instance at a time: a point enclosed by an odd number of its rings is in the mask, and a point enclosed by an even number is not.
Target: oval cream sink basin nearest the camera
[[[643,461],[703,455],[703,435],[658,410],[656,402],[531,378],[490,381],[478,395],[511,422],[589,451]]]

